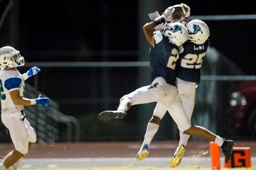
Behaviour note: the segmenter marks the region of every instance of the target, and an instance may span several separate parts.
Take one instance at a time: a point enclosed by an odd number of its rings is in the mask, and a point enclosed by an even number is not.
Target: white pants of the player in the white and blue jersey
[[[1,115],[3,124],[9,129],[11,140],[15,150],[26,155],[28,153],[28,142],[36,142],[36,132],[21,112]]]

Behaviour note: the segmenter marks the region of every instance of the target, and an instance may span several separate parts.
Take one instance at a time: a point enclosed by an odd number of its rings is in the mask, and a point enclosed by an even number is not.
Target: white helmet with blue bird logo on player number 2
[[[179,22],[168,23],[164,29],[164,34],[171,43],[178,47],[188,40],[188,30]]]

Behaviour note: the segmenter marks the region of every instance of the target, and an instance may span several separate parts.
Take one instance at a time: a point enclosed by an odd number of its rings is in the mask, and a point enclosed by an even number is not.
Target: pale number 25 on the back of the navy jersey
[[[187,54],[184,56],[184,59],[181,60],[181,66],[184,68],[201,68],[203,57],[206,52],[201,54]],[[188,65],[190,64],[190,65]]]

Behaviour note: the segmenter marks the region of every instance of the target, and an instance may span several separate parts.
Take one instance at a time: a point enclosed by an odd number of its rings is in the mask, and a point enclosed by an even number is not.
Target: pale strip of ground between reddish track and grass
[[[158,167],[168,168],[171,157],[149,157],[137,162],[136,158],[27,158],[21,161],[20,168],[88,168],[88,167]],[[2,161],[2,160],[0,160]],[[220,158],[221,167],[224,158]],[[251,158],[252,166],[256,166],[256,157]],[[210,157],[184,157],[179,167],[211,167]]]

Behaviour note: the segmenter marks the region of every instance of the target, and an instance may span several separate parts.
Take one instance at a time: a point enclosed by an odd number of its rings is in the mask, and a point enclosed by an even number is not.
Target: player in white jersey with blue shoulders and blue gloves
[[[28,153],[28,149],[36,142],[36,133],[21,113],[24,106],[42,105],[47,107],[49,98],[27,99],[23,97],[24,81],[40,72],[37,67],[32,67],[24,74],[20,74],[17,67],[24,65],[24,58],[13,47],[0,48],[0,94],[1,94],[1,119],[9,129],[15,150],[5,156],[0,164],[0,170],[17,169],[20,160]]]

